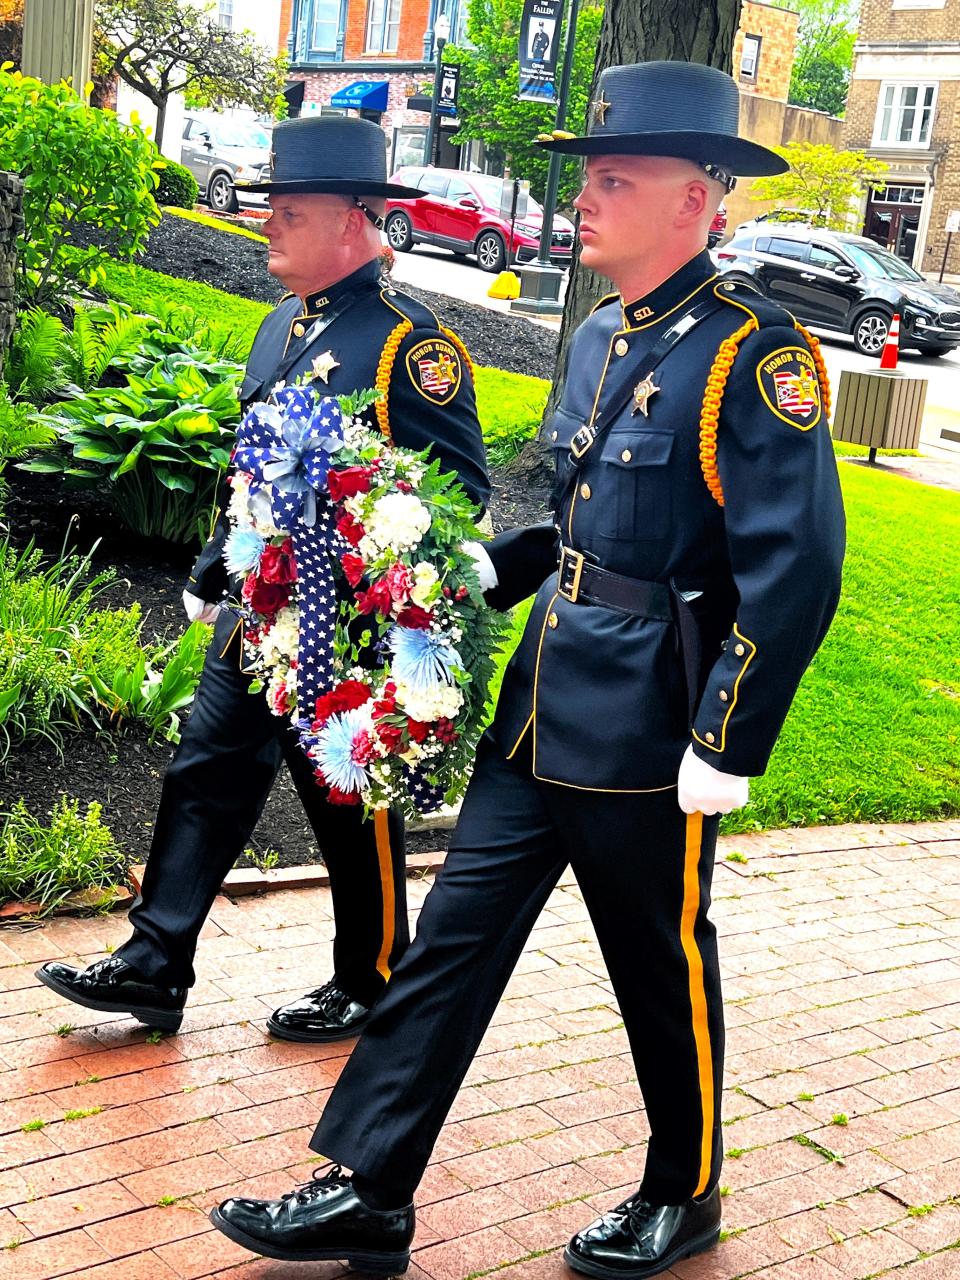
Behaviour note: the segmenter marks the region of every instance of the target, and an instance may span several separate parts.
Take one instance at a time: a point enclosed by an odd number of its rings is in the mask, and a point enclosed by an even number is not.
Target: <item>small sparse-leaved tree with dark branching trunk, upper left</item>
[[[179,0],[99,0],[95,68],[100,76],[116,72],[154,104],[157,146],[172,93],[184,93],[192,106],[252,106],[274,115],[283,109],[285,58]]]

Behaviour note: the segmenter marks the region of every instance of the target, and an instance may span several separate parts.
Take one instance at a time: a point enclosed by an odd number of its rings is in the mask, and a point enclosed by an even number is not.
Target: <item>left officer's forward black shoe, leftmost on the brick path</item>
[[[186,987],[157,987],[120,956],[108,956],[86,969],[50,960],[37,978],[58,996],[84,1009],[106,1014],[133,1014],[147,1027],[175,1032],[183,1021]]]

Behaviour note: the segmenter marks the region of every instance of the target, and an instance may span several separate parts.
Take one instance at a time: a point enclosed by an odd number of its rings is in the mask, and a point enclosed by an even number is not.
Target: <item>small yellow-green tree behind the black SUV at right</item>
[[[756,178],[751,200],[776,200],[813,215],[819,227],[846,227],[850,209],[868,187],[883,189],[890,165],[863,151],[837,151],[813,142],[788,142],[773,147],[790,165],[786,173]]]

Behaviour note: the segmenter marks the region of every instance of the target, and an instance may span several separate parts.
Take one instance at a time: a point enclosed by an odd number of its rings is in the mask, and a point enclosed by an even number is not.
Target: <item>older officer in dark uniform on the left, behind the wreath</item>
[[[292,292],[264,320],[241,387],[242,407],[302,375],[332,396],[378,388],[371,425],[398,445],[431,447],[480,506],[489,497],[470,358],[428,307],[380,279],[383,197],[416,197],[387,182],[381,131],[342,118],[284,120],[273,134],[269,269]],[[184,593],[191,617],[215,621],[204,675],[164,778],[133,937],[86,969],[50,963],[37,977],[92,1009],[125,1011],[175,1030],[192,986],[193,954],[224,876],[243,851],[282,760],[330,874],[334,975],[278,1009],[287,1039],[356,1034],[406,950],[403,823],[362,819],[316,786],[296,731],[248,691],[242,623],[218,602],[230,593],[220,515]],[[236,586],[233,594],[237,594]]]

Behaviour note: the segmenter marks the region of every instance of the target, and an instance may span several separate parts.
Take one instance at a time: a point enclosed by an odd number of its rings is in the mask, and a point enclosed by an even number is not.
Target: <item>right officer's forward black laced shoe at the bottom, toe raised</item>
[[[401,1275],[410,1265],[413,1206],[375,1210],[340,1166],[278,1201],[228,1199],[210,1221],[244,1249],[285,1262],[346,1261],[369,1275]]]

